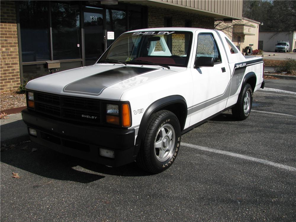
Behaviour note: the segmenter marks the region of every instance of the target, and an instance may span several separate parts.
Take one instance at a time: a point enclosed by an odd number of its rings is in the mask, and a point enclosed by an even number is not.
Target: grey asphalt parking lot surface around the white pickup
[[[184,134],[176,162],[156,175],[32,142],[3,151],[1,221],[295,221],[296,95],[258,91],[253,101],[247,120],[224,112]]]

